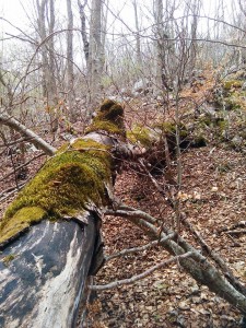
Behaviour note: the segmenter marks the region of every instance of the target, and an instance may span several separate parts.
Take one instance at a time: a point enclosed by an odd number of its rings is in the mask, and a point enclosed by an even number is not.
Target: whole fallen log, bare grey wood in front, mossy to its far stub
[[[99,213],[112,201],[122,115],[106,101],[85,136],[62,145],[5,211],[0,327],[75,327],[89,272],[103,261]]]

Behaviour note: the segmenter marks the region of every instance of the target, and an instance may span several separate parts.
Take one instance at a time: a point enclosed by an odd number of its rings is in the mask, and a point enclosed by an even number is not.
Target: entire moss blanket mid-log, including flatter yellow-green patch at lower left
[[[106,145],[77,140],[46,162],[4,213],[0,242],[47,216],[74,216],[91,203],[106,204],[112,157]]]

